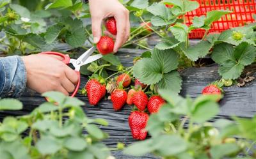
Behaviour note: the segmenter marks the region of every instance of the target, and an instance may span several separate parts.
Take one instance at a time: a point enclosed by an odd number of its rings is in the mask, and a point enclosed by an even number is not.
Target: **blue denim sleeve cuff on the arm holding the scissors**
[[[26,67],[19,56],[0,57],[0,97],[17,98],[26,88]]]

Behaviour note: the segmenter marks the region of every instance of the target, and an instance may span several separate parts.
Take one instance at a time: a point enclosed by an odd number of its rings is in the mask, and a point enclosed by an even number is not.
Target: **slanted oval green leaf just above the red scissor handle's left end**
[[[47,43],[52,43],[56,38],[59,36],[63,26],[55,24],[53,26],[48,27],[47,31],[45,32],[45,40]]]

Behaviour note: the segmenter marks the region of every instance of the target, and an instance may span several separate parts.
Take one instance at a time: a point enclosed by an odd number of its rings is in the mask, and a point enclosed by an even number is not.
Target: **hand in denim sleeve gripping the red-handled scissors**
[[[74,70],[61,62],[59,57],[30,55],[22,57],[26,66],[27,86],[38,93],[60,91],[72,93],[78,77]]]

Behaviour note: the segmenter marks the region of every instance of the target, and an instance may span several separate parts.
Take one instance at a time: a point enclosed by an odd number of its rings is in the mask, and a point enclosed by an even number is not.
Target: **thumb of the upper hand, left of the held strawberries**
[[[101,36],[101,23],[102,19],[92,19],[92,34],[93,34],[93,42],[98,43]]]

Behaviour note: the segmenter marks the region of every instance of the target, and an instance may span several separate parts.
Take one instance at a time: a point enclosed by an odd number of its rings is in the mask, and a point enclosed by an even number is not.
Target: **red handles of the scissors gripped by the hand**
[[[44,54],[44,55],[55,55],[55,56],[60,56],[62,57],[62,62],[65,63],[65,64],[69,64],[70,63],[70,57],[69,56],[66,56],[65,54],[62,54],[60,52],[51,52],[51,51],[47,51],[47,52],[41,52],[40,54]],[[81,84],[81,79],[80,79],[80,72],[79,71],[76,71],[76,74],[77,74],[77,77],[78,77],[78,82],[76,84],[76,88],[74,90],[74,92],[72,93],[71,97],[74,97],[79,89],[79,86]],[[47,98],[46,98],[47,101],[49,101]]]

